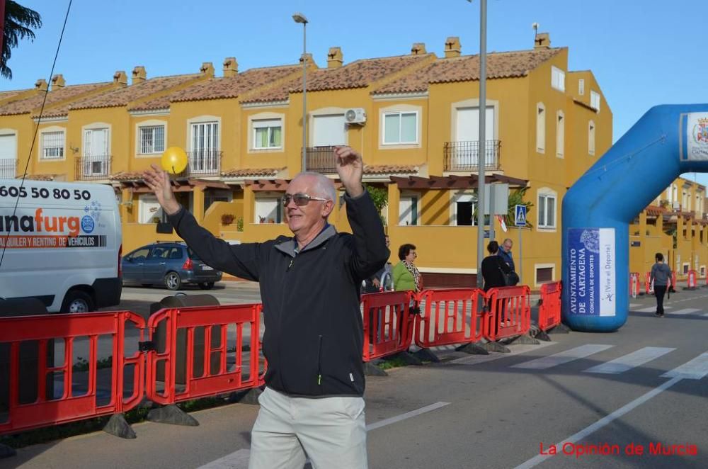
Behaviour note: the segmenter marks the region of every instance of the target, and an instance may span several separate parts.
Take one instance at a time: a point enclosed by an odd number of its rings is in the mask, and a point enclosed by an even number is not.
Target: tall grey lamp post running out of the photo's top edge
[[[467,0],[472,3],[472,0]],[[482,288],[484,258],[484,163],[486,152],[486,0],[479,0],[479,154],[477,157],[477,286]],[[489,222],[494,222],[493,207]],[[491,231],[490,231],[491,235]],[[491,241],[491,239],[490,239]]]

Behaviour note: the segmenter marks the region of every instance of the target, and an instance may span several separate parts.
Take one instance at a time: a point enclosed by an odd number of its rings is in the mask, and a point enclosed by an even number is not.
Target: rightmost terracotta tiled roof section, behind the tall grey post
[[[492,52],[487,55],[487,78],[524,77],[530,70],[554,57],[561,50],[563,49]],[[385,84],[373,94],[416,93],[427,91],[431,83],[473,80],[479,80],[479,55],[441,58],[423,69]]]

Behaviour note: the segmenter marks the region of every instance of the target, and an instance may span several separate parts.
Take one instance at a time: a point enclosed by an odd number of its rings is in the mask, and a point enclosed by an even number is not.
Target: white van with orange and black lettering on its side
[[[50,312],[118,305],[121,249],[112,187],[0,179],[0,298]]]

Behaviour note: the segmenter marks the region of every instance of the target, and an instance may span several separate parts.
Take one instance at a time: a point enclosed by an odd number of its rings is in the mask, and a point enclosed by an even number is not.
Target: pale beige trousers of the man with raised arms
[[[366,469],[361,397],[290,397],[265,388],[251,431],[249,469]]]

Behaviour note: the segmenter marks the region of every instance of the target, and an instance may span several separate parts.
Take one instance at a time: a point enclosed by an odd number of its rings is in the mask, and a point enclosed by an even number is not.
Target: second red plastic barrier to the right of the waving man
[[[479,288],[426,290],[425,308],[416,319],[414,339],[423,349],[479,341],[486,315],[481,314],[484,292]]]

